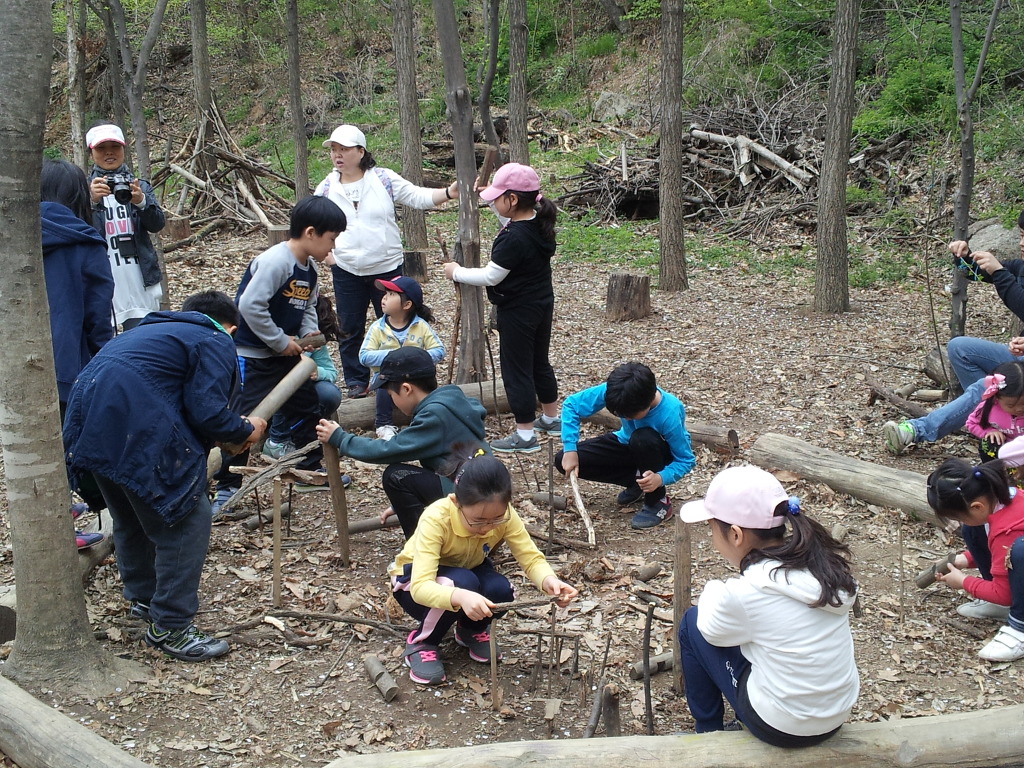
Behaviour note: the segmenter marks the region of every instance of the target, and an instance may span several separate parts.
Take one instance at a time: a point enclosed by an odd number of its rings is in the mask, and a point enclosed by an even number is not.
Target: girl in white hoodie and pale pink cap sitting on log
[[[708,582],[679,626],[696,731],[723,730],[724,696],[762,741],[792,748],[828,738],[860,688],[848,549],[758,467],[720,472],[679,516],[710,520],[712,544],[740,571]]]

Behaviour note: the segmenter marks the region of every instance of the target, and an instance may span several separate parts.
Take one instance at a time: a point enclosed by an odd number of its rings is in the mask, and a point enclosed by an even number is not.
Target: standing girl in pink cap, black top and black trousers
[[[561,434],[558,382],[548,359],[555,292],[551,258],[555,255],[558,209],[541,194],[541,179],[528,165],[508,163],[498,169],[490,186],[480,191],[502,222],[486,266],[470,268],[455,261],[444,275],[456,283],[485,286],[495,305],[499,359],[516,430],[494,440],[498,453],[531,454],[541,450],[536,430]],[[535,421],[536,404],[542,415]]]

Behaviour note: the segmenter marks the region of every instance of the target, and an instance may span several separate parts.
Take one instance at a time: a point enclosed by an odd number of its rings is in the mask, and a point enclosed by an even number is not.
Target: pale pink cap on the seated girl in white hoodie
[[[715,475],[703,499],[684,504],[683,522],[715,518],[741,528],[769,530],[785,522],[775,509],[788,500],[785,488],[771,472],[760,467],[729,467]]]

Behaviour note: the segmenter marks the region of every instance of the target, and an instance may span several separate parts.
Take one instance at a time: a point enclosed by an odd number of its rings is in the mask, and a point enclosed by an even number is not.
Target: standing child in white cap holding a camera
[[[85,143],[92,156],[92,223],[106,241],[114,273],[114,321],[127,331],[160,309],[163,275],[150,233],[164,228],[164,212],[150,182],[128,168],[125,135],[118,126],[93,126]]]

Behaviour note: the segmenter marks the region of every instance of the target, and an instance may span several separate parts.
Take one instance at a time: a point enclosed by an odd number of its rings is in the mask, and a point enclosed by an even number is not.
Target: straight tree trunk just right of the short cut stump
[[[662,135],[657,287],[689,288],[686,278],[683,203],[683,0],[662,2]]]

